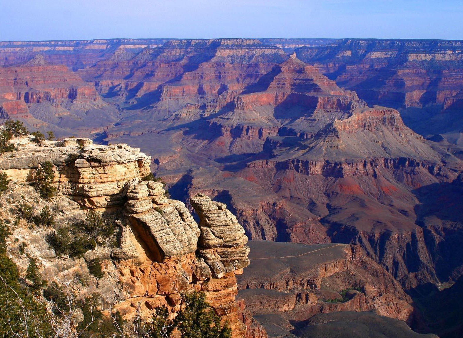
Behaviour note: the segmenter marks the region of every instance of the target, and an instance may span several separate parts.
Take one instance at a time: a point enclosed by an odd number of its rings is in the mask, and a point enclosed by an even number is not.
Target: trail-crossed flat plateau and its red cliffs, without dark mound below
[[[250,246],[248,273],[238,277],[239,296],[265,327],[294,330],[316,314],[343,311],[423,324],[400,284],[359,246],[268,241]],[[273,321],[266,318],[270,314]]]

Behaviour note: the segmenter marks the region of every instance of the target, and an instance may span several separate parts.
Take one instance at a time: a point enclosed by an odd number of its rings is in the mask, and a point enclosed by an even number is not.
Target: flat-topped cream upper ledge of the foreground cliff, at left
[[[21,141],[24,144],[14,157],[1,156],[0,170],[16,182],[33,181],[40,164],[51,161],[57,191],[87,208],[123,204],[125,183],[150,172],[150,156],[127,145],[94,145],[86,138],[44,141],[40,145],[27,136]],[[133,188],[148,192],[146,184]]]

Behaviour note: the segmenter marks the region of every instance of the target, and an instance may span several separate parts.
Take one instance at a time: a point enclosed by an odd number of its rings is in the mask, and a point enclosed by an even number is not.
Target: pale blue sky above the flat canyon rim
[[[93,38],[463,39],[462,0],[2,0],[0,41]]]

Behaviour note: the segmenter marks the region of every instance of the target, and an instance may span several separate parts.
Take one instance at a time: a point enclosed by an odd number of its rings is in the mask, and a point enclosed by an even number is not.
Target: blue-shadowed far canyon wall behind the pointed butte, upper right
[[[342,39],[295,52],[369,104],[399,109],[419,134],[453,143],[462,115],[447,108],[461,91],[462,50],[458,40]]]

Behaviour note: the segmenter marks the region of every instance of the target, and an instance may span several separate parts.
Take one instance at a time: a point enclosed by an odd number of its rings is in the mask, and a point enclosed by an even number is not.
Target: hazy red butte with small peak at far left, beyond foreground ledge
[[[94,86],[64,65],[42,55],[19,66],[0,68],[0,118],[22,119],[27,126],[56,135],[90,135],[116,121],[116,110]]]

